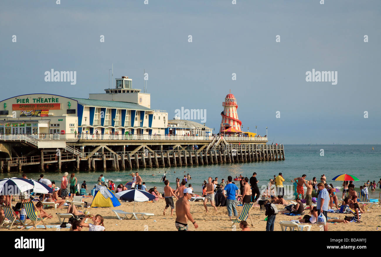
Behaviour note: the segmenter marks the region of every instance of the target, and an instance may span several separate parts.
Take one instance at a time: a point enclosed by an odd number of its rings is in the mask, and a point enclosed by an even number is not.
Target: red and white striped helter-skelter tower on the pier
[[[222,132],[228,128],[234,128],[237,131],[241,131],[242,122],[238,119],[238,105],[230,90],[229,94],[225,97],[225,101],[222,103],[222,106],[224,107],[224,111],[221,112],[222,121],[219,132]]]

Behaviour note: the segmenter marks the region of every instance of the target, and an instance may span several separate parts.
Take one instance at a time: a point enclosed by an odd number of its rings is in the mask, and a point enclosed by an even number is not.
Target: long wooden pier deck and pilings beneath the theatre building
[[[131,170],[285,159],[267,137],[0,135],[0,172]]]

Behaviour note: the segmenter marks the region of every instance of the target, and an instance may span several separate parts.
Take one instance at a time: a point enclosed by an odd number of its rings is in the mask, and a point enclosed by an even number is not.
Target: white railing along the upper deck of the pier
[[[173,136],[142,134],[0,134],[0,140],[25,140],[34,145],[39,140],[213,140],[215,136]],[[267,141],[267,137],[224,137],[225,140]]]

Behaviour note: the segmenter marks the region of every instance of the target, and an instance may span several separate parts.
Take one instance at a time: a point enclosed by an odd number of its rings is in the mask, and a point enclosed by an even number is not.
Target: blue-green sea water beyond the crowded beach
[[[372,147],[374,150],[372,150]],[[243,177],[251,177],[253,172],[257,173],[259,189],[267,186],[269,179],[274,175],[282,172],[285,182],[283,185],[287,189],[293,186],[291,180],[307,175],[307,180],[312,180],[313,177],[320,181],[321,175],[325,174],[327,183],[332,183],[335,188],[341,188],[343,181],[333,181],[337,175],[350,174],[359,178],[359,181],[354,181],[355,190],[360,191],[359,187],[368,180],[375,180],[376,183],[381,180],[381,145],[284,145],[285,160],[284,161],[259,161],[234,164],[213,164],[204,166],[186,166],[186,167],[165,167],[165,168],[147,168],[133,169],[123,171],[79,171],[75,173],[78,183],[82,184],[86,181],[88,193],[97,183],[99,175],[103,174],[106,182],[114,181],[115,185],[126,184],[131,181],[131,172],[139,171],[142,180],[146,182],[147,190],[157,187],[159,192],[164,191],[164,183],[160,181],[162,176],[166,174],[166,178],[170,181],[170,186],[176,188],[176,178],[182,179],[184,175],[191,175],[192,179],[187,182],[192,184],[194,192],[201,194],[202,183],[208,180],[208,177],[218,177],[218,182],[230,175],[233,178],[242,175]],[[45,172],[45,177],[56,182],[56,186],[60,187],[62,173]],[[28,178],[38,179],[40,172],[27,173]],[[21,177],[22,173],[0,173],[0,178]],[[70,173],[69,173],[70,177]],[[235,184],[240,187],[239,181]],[[339,189],[340,190],[340,189]],[[341,190],[340,190],[341,191]],[[370,198],[379,197],[381,189],[376,189],[371,192],[369,189]],[[338,193],[341,196],[340,193]],[[288,197],[290,198],[290,197]]]

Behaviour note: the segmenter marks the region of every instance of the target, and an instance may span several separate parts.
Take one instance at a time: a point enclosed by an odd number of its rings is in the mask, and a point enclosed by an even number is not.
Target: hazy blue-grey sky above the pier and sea
[[[139,89],[145,69],[151,108],[169,119],[205,109],[218,132],[231,90],[244,131],[267,126],[270,142],[381,143],[380,1],[236,2],[2,1],[0,99],[88,98],[109,87],[113,64]],[[51,69],[77,83],[45,82]],[[337,84],[307,82],[312,69],[337,72]]]

